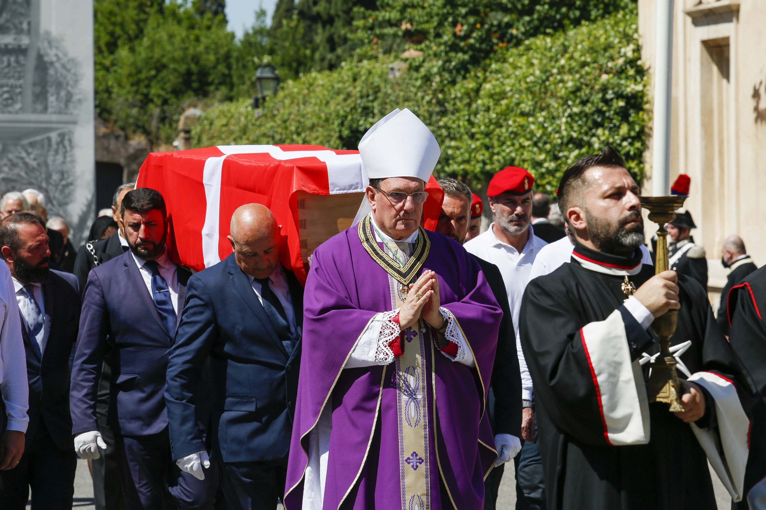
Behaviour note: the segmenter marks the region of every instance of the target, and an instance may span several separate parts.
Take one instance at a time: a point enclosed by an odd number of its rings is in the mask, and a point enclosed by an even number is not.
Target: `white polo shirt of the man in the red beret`
[[[502,274],[502,281],[506,284],[508,304],[511,308],[513,333],[516,334],[516,353],[519,356],[519,369],[522,374],[522,398],[532,400],[532,376],[529,375],[521,339],[519,339],[519,313],[522,309],[524,290],[529,282],[529,273],[532,271],[532,263],[540,249],[548,243],[535,236],[535,231],[530,225],[529,239],[519,253],[512,245],[497,239],[493,230],[494,226],[495,223],[490,224],[486,232],[466,242],[463,247],[467,252],[492,262]]]

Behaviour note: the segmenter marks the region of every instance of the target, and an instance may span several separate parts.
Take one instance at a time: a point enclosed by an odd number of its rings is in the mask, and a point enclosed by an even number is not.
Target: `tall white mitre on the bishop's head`
[[[395,109],[359,141],[362,168],[369,179],[417,177],[428,182],[441,150],[426,125],[408,109]]]

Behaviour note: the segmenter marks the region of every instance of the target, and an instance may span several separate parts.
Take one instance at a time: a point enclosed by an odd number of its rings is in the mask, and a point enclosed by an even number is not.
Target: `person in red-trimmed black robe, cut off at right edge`
[[[766,267],[732,287],[726,312],[732,325],[728,340],[760,395],[751,412],[745,498],[734,508],[766,508]]]

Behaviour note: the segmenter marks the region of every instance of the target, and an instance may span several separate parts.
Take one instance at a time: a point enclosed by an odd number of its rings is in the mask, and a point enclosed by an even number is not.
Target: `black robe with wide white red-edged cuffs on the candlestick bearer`
[[[683,275],[671,352],[679,378],[702,388],[705,415],[686,424],[648,401],[653,317],[623,285],[653,274],[639,251],[624,258],[578,244],[570,264],[526,289],[520,330],[549,509],[714,510],[708,460],[742,498],[749,421],[738,391],[745,400],[749,391],[705,290]]]

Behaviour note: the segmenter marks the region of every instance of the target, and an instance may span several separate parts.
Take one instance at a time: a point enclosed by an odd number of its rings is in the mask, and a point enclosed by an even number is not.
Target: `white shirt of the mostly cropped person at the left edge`
[[[27,357],[11,271],[5,264],[0,264],[0,281],[0,393],[5,402],[8,430],[26,432],[29,424]]]

